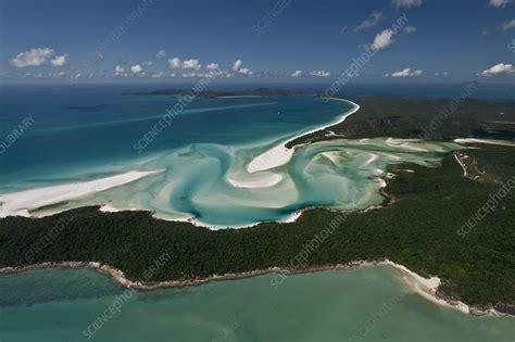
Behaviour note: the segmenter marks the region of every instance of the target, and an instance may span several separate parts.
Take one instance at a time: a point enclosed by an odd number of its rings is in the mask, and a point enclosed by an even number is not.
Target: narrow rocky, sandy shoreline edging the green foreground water
[[[438,295],[438,288],[441,284],[439,277],[424,278],[423,276],[410,270],[407,267],[395,264],[389,259],[384,261],[356,261],[348,264],[337,264],[327,266],[313,266],[303,269],[288,269],[284,267],[269,267],[265,269],[255,269],[250,271],[243,271],[239,274],[225,274],[225,275],[212,275],[205,278],[189,279],[189,280],[168,280],[158,282],[141,282],[130,280],[125,277],[124,273],[120,269],[113,268],[109,265],[104,265],[98,262],[62,262],[62,263],[41,263],[34,264],[24,267],[3,267],[0,268],[1,275],[12,275],[30,270],[38,269],[92,269],[110,277],[116,284],[126,288],[140,291],[151,291],[158,289],[180,289],[188,287],[202,286],[212,281],[225,281],[225,280],[238,280],[253,278],[269,274],[286,274],[301,275],[311,274],[325,270],[353,270],[367,266],[389,266],[400,273],[404,284],[412,290],[414,293],[420,295],[426,301],[432,304],[449,307],[461,312],[468,316],[477,317],[511,317],[515,318],[515,315],[502,313],[495,311],[493,307],[488,309],[469,306],[461,301],[454,301],[450,299],[443,299]]]

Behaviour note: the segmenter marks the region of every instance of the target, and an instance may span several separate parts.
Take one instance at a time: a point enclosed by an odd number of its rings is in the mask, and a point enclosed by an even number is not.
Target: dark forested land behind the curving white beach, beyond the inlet
[[[328,131],[349,139],[393,137],[449,140],[454,138],[515,139],[515,105],[473,99],[413,100],[351,98],[360,104],[356,115],[325,130],[300,137],[288,148],[326,140]],[[501,114],[502,113],[502,114]]]

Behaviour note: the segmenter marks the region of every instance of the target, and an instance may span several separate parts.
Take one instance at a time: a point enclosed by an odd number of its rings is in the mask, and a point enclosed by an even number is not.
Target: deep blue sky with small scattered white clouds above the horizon
[[[0,0],[0,81],[513,83],[514,2]]]

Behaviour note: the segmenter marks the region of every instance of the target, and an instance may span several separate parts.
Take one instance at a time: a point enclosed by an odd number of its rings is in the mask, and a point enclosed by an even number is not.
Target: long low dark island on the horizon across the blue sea
[[[190,89],[158,89],[152,91],[135,91],[123,92],[123,96],[187,96],[190,94]],[[199,93],[199,98],[213,99],[225,97],[291,97],[302,93],[299,90],[285,90],[276,88],[256,88],[241,91],[226,91],[226,90],[204,90]]]

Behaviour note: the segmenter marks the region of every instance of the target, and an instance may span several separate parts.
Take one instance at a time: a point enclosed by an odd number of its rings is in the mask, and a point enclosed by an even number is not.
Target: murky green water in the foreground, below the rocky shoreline
[[[2,342],[515,339],[513,318],[470,317],[435,305],[387,266],[293,275],[277,288],[274,277],[136,292],[88,332],[123,295],[110,278],[86,269],[3,275],[0,334]]]

